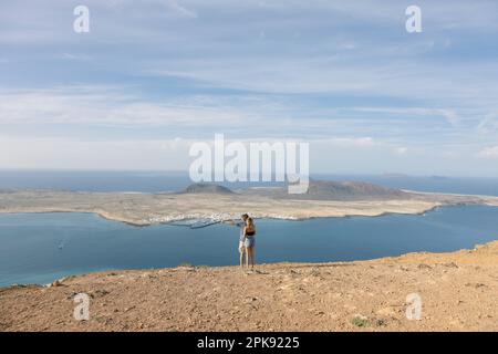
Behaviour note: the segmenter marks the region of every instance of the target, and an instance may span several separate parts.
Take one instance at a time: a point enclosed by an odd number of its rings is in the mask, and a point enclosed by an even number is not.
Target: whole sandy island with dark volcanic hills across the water
[[[188,219],[255,218],[300,220],[323,217],[424,214],[456,205],[498,206],[498,197],[416,192],[360,181],[310,181],[307,194],[284,187],[230,190],[195,184],[177,192],[81,192],[0,190],[0,212],[93,212],[110,220],[149,226]]]

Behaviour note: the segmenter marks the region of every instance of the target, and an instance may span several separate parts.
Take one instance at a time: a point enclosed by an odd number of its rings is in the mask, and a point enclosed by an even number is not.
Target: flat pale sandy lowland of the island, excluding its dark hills
[[[111,220],[137,226],[186,218],[228,220],[248,211],[256,218],[282,219],[422,214],[439,206],[457,204],[498,206],[498,197],[412,192],[406,199],[347,201],[273,199],[237,194],[0,191],[0,212],[95,212]]]

